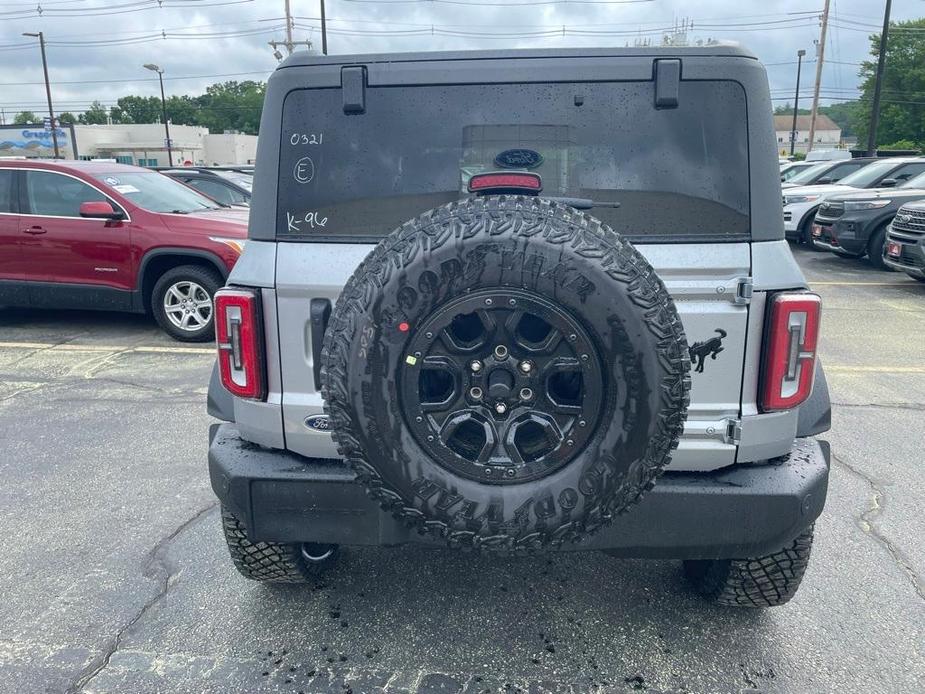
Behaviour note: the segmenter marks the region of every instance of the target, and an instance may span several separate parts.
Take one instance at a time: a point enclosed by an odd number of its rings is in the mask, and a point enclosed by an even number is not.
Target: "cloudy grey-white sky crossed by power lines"
[[[768,66],[775,103],[792,98],[796,52],[814,56],[823,0],[327,0],[328,52],[658,44],[683,21],[692,39],[738,41]],[[823,95],[851,98],[868,35],[884,0],[831,0]],[[291,0],[296,36],[320,50],[318,0]],[[57,111],[125,94],[156,94],[166,71],[171,94],[197,94],[226,79],[265,79],[276,65],[267,42],[281,40],[284,0],[0,0],[0,109],[6,122],[45,109],[43,31]],[[39,9],[40,8],[40,9]],[[922,0],[895,0],[893,18],[925,16]],[[164,38],[166,36],[166,38]],[[831,62],[830,62],[831,61]],[[814,65],[804,61],[801,98]],[[153,79],[152,79],[153,78]],[[808,103],[804,102],[804,103]]]

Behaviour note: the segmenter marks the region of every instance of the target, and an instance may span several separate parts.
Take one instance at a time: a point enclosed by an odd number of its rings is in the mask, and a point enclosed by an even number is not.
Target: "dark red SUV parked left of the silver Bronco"
[[[210,340],[246,236],[246,210],[154,171],[0,161],[0,306],[150,311],[178,340]]]

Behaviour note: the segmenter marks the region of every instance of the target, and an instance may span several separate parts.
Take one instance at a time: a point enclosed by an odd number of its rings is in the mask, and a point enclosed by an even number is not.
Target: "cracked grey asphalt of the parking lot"
[[[796,254],[834,461],[803,586],[765,611],[601,553],[347,549],[315,585],[247,582],[206,470],[212,350],[0,311],[0,691],[925,691],[925,284]]]

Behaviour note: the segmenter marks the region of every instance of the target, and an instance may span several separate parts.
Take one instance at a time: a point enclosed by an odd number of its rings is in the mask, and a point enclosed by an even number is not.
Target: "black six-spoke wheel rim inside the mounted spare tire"
[[[585,448],[604,378],[597,348],[571,314],[539,295],[495,289],[450,302],[413,328],[399,391],[428,456],[463,477],[512,484],[550,475]]]

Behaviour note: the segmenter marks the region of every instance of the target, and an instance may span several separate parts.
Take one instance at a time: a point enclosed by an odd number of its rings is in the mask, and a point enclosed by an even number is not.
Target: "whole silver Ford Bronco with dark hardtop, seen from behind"
[[[285,61],[215,302],[237,569],[606,550],[790,599],[830,407],[771,112],[732,46]]]

